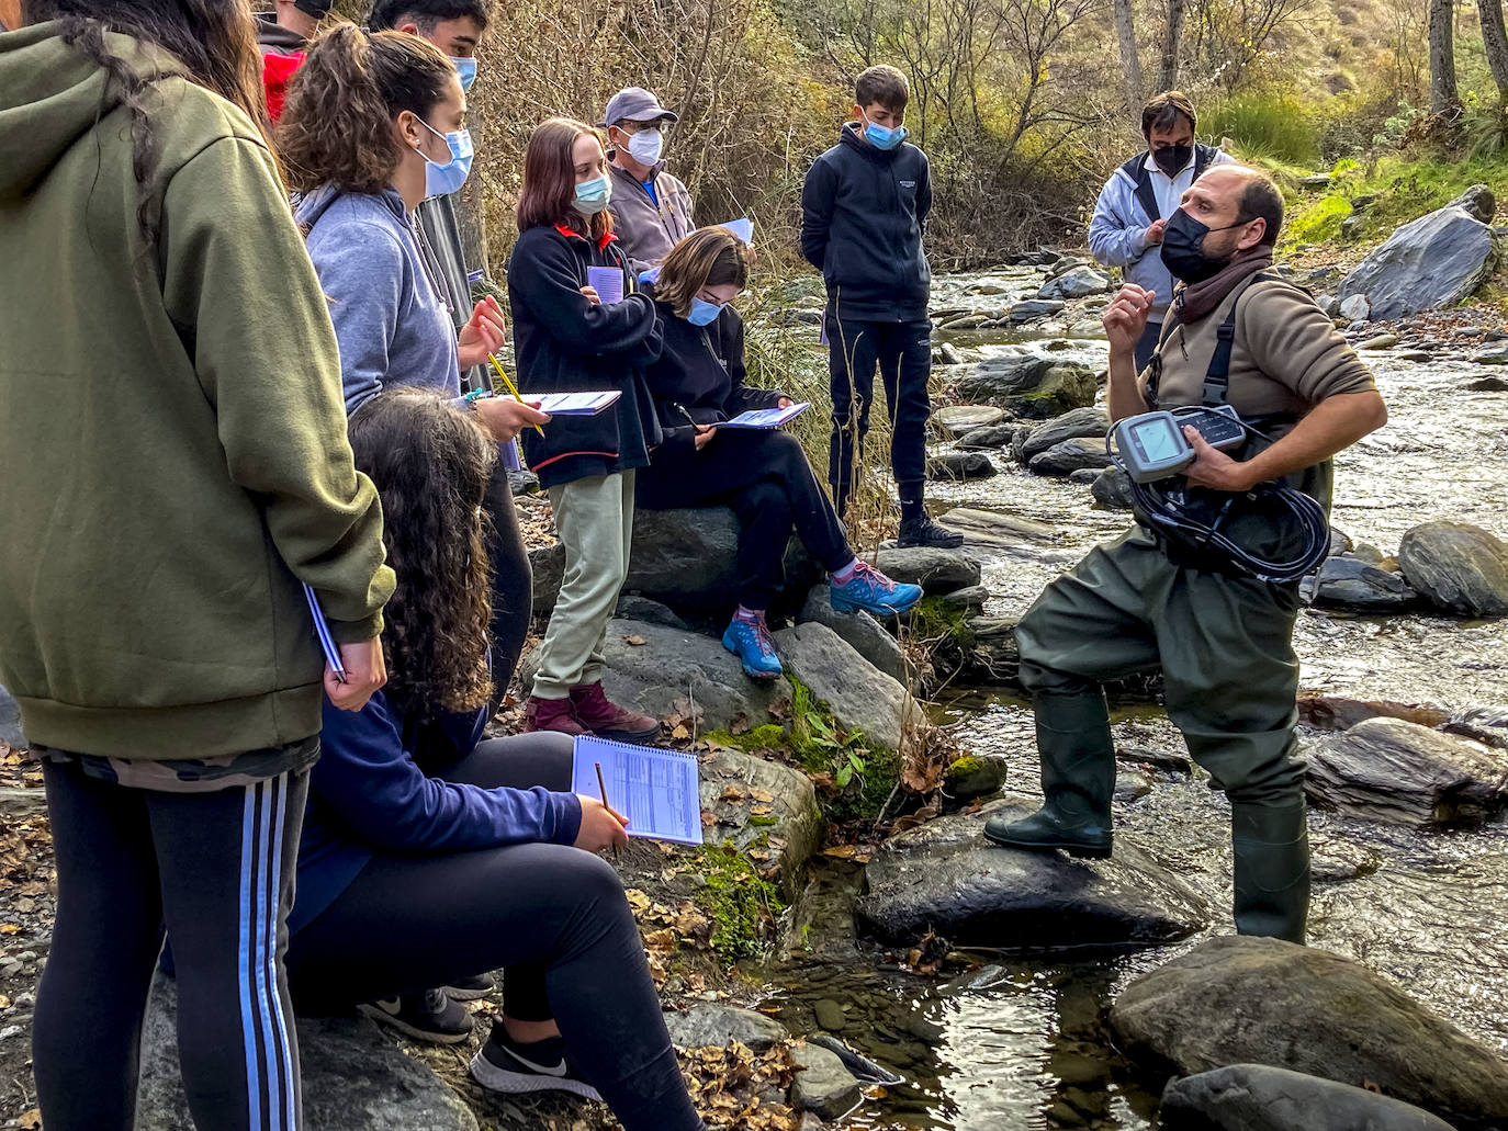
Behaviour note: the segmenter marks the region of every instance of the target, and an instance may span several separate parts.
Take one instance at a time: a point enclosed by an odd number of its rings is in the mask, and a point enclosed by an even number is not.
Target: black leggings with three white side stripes
[[[158,793],[44,763],[57,921],[32,1057],[47,1131],[130,1131],[163,924],[178,965],[188,1110],[216,1131],[294,1131],[299,1048],[282,971],[309,775]]]

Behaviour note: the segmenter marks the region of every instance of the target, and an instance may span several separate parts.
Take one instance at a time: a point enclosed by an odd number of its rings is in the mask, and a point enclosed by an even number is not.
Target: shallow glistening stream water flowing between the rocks
[[[1031,297],[1041,273],[1015,268],[952,276],[935,284],[935,309],[998,311]],[[1024,333],[942,335],[965,360],[1027,342],[1056,356],[1102,366],[1105,345],[1092,312]],[[1497,327],[1493,327],[1497,329]],[[1430,519],[1470,522],[1508,538],[1508,394],[1464,389],[1475,366],[1464,357],[1405,360],[1368,353],[1387,400],[1389,425],[1336,460],[1333,523],[1383,553]],[[1092,507],[1086,487],[1027,474],[997,458],[1000,474],[929,490],[933,510],[967,505],[1031,519],[1059,531],[1069,561],[1125,529],[1122,513]],[[991,555],[988,612],[1018,614],[1062,569],[1047,561]],[[1460,621],[1408,614],[1363,617],[1310,608],[1295,632],[1304,689],[1369,700],[1458,709],[1508,701],[1508,621]],[[953,688],[935,719],[965,749],[1007,760],[1007,790],[1038,795],[1031,715],[1009,694]],[[1117,746],[1182,752],[1157,709],[1122,709]],[[1125,774],[1125,772],[1123,772]],[[1123,777],[1117,840],[1151,852],[1164,867],[1221,908],[1212,927],[1228,933],[1229,810],[1197,775],[1146,771]],[[1140,795],[1140,796],[1137,796]],[[1467,1033],[1508,1056],[1508,825],[1473,832],[1422,834],[1313,813],[1315,894],[1310,941],[1363,961]],[[819,860],[795,909],[790,949],[766,976],[769,1007],[796,1033],[819,1031],[817,1015],[838,1036],[894,1068],[906,1083],[873,1089],[851,1117],[863,1128],[1155,1126],[1161,1080],[1139,1077],[1111,1047],[1102,1012],[1137,974],[1199,938],[1111,958],[977,955],[971,974],[942,982],[900,971],[887,955],[855,939],[852,902],[858,864]]]

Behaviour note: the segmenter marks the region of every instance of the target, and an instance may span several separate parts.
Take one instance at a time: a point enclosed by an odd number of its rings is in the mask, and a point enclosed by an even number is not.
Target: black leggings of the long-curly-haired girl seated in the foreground
[[[569,790],[570,765],[570,739],[544,731],[481,742],[437,777]],[[300,1009],[498,967],[508,1016],[553,1016],[626,1131],[701,1131],[623,882],[600,857],[564,844],[379,854],[288,949]]]

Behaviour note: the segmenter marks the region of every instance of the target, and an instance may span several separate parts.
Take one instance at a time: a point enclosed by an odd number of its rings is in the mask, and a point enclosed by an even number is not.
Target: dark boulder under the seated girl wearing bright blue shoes
[[[739,520],[727,507],[633,511],[633,550],[624,593],[638,593],[689,615],[730,612],[737,605]],[[534,612],[547,614],[559,596],[566,547],[529,552]],[[801,603],[822,567],[796,537],[786,547],[786,588],[777,606]]]

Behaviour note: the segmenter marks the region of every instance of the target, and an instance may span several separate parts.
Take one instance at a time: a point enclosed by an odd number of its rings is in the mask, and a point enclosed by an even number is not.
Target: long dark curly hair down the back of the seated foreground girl
[[[388,564],[398,575],[383,611],[383,694],[419,716],[475,710],[492,697],[483,496],[498,445],[419,389],[366,401],[350,434],[357,469],[377,484]]]

